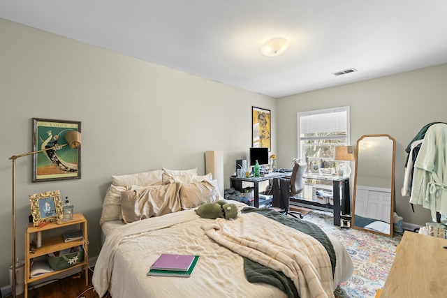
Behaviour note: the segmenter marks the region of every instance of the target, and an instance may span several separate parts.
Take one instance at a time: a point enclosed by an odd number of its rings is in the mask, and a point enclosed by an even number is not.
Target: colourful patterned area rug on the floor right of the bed
[[[386,276],[395,258],[395,249],[402,234],[393,238],[355,229],[342,229],[333,225],[332,213],[312,210],[303,218],[315,223],[325,232],[334,235],[346,247],[354,264],[354,273],[349,281],[339,285],[336,298],[374,297],[383,288]]]

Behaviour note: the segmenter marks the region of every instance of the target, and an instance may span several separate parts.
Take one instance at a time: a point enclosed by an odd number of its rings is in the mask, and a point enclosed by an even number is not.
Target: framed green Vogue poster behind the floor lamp
[[[33,118],[33,182],[80,179],[81,149],[67,146],[65,134],[81,132],[80,121]]]

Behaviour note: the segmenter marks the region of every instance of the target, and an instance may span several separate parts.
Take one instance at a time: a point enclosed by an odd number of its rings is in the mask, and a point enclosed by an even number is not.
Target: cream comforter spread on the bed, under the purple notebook
[[[246,215],[239,220],[247,221]],[[268,218],[260,220],[272,224]],[[201,228],[212,223],[215,221],[185,210],[117,228],[108,235],[96,261],[92,278],[96,292],[102,297],[109,290],[113,298],[286,297],[272,285],[249,283],[244,276],[243,258],[212,240]],[[342,244],[330,239],[337,255],[333,291],[337,283],[351,276],[353,267]],[[200,259],[189,278],[147,276],[161,253],[197,254]]]

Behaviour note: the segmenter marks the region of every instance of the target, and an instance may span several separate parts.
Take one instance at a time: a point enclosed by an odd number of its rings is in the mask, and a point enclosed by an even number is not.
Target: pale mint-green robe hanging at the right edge
[[[447,124],[432,124],[414,163],[410,202],[430,209],[433,221],[437,212],[447,215]]]

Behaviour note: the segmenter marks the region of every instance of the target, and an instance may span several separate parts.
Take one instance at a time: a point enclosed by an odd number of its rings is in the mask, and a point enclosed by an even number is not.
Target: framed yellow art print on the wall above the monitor
[[[251,147],[272,150],[270,135],[270,110],[251,108]]]

